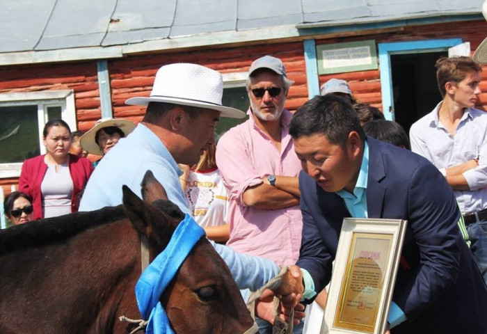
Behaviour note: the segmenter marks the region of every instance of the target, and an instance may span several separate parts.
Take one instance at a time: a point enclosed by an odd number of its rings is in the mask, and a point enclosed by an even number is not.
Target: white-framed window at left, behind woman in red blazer
[[[72,90],[0,94],[0,178],[18,177],[25,159],[45,154],[42,129],[61,118],[76,129]]]

